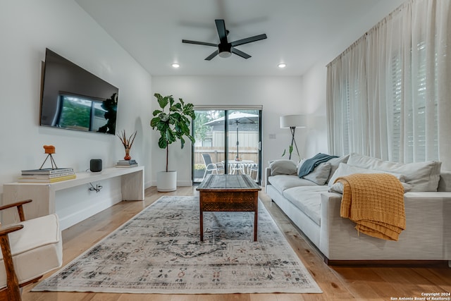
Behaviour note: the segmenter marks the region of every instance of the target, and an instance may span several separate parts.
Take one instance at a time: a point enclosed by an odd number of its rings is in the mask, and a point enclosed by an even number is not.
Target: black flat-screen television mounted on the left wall
[[[115,135],[118,88],[46,49],[40,125]]]

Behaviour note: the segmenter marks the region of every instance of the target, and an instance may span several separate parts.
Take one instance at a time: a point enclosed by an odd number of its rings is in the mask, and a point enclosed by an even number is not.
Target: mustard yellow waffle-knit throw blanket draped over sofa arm
[[[388,173],[354,173],[337,178],[343,184],[340,216],[357,223],[359,233],[398,240],[406,228],[404,188]]]

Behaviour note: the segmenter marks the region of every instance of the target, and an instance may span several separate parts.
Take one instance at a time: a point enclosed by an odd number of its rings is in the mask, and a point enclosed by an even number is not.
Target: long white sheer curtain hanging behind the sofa
[[[331,154],[451,170],[451,0],[410,0],[328,64]]]

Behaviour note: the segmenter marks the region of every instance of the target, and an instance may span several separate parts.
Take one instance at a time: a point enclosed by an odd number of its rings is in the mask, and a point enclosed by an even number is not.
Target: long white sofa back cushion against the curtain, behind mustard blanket
[[[412,184],[413,191],[437,191],[440,180],[440,161],[414,162],[408,164],[382,161],[381,159],[361,154],[350,154],[347,164],[377,171],[402,173],[405,183]]]

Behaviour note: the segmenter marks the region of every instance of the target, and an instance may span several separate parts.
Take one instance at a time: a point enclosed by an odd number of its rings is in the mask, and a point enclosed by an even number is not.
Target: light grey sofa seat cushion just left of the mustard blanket
[[[299,210],[321,225],[321,192],[327,192],[326,185],[317,185],[315,187],[295,187],[283,192],[283,196],[294,204]]]

